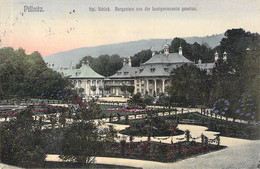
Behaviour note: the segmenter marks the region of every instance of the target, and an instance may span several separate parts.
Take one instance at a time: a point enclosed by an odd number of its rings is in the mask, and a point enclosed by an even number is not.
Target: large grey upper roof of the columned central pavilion
[[[167,64],[177,64],[177,63],[193,63],[192,61],[185,58],[183,55],[179,55],[179,53],[169,53],[165,55],[163,53],[155,54],[152,58],[144,63],[147,64],[158,64],[158,63],[167,63]]]

